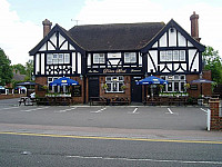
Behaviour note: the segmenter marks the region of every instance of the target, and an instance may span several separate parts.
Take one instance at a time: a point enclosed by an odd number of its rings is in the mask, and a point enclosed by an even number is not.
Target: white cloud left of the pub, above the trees
[[[41,40],[42,29],[32,22],[22,22],[7,0],[0,0],[0,48],[12,65],[24,65],[31,59],[29,50]]]

